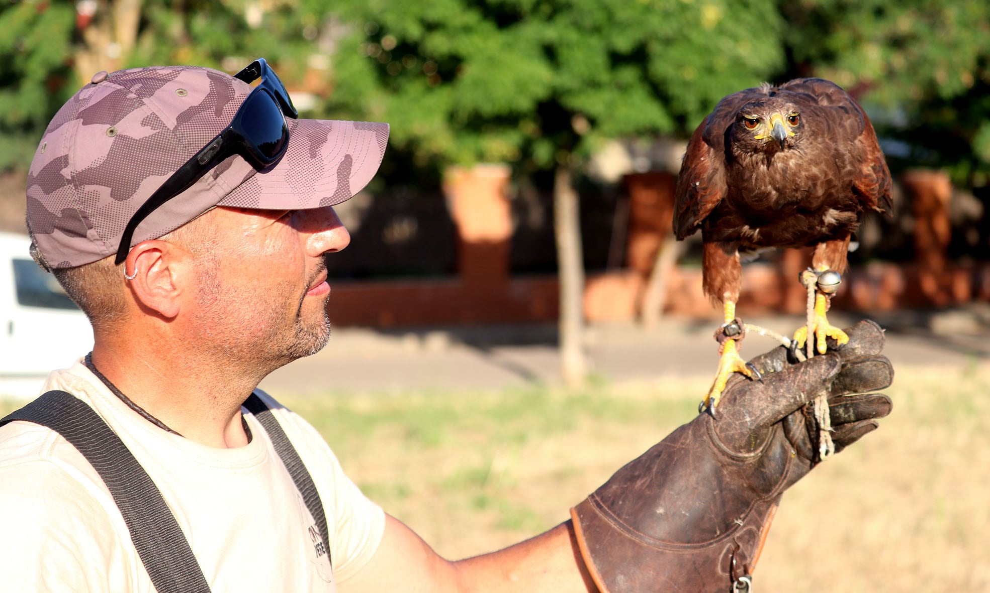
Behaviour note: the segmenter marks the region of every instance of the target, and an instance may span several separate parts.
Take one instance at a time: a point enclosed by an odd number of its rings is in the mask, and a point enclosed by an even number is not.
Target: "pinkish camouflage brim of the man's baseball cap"
[[[282,159],[249,177],[217,206],[302,210],[340,204],[371,181],[387,143],[388,124],[290,120]]]

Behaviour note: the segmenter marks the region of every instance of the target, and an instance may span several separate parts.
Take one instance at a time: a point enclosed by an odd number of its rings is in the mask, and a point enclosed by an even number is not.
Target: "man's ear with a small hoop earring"
[[[181,309],[187,290],[191,254],[167,241],[142,241],[124,260],[124,275],[131,295],[145,312],[172,319]]]

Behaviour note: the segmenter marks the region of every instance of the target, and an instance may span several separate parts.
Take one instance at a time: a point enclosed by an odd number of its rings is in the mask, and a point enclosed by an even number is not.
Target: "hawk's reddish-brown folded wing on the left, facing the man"
[[[768,86],[745,89],[715,106],[688,141],[674,192],[674,234],[694,234],[726,196],[726,130],[743,105],[767,95]]]

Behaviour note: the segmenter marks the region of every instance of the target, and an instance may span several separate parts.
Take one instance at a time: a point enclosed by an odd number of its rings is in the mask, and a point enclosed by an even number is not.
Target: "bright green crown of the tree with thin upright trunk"
[[[782,67],[767,0],[347,0],[333,104],[450,163],[551,167],[596,140],[696,125]]]

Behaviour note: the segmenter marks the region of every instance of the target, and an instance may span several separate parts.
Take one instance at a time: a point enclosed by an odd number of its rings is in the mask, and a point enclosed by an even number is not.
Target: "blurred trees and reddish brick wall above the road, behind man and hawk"
[[[819,76],[861,102],[897,180],[895,215],[865,221],[836,306],[990,296],[985,2],[0,7],[7,230],[23,232],[25,173],[44,127],[95,72],[159,63],[235,72],[264,56],[303,117],[392,127],[380,173],[339,208],[353,240],[332,262],[338,325],[552,321],[556,272],[568,266],[587,272],[565,279],[583,288],[583,319],[717,318],[700,296],[697,246],[658,257],[685,138],[729,93]],[[554,202],[567,199],[578,217],[555,223]],[[558,240],[576,245],[570,260]],[[805,254],[778,253],[748,267],[741,312],[800,312],[793,279],[807,265]]]

